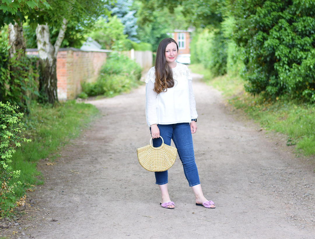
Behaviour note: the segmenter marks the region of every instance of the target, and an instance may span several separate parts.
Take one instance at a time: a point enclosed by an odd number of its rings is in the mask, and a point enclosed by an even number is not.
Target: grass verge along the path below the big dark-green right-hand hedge
[[[291,101],[286,97],[252,96],[244,92],[244,82],[239,76],[212,79],[210,70],[204,69],[202,64],[192,64],[189,68],[203,74],[207,84],[220,90],[233,107],[242,109],[261,127],[287,135],[287,146],[296,145],[297,153],[315,156],[315,104]]]

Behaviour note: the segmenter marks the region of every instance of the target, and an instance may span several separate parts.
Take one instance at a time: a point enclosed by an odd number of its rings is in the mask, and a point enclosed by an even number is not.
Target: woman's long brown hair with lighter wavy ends
[[[178,52],[178,45],[173,38],[164,38],[157,48],[157,57],[155,60],[155,83],[153,89],[157,94],[162,91],[167,91],[167,88],[172,88],[175,85],[173,71],[167,64],[165,58],[166,47],[171,42],[176,44]]]

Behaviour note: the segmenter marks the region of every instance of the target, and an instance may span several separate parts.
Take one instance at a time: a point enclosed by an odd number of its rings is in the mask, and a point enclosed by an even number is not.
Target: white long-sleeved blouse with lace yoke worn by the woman
[[[186,65],[177,62],[173,70],[175,85],[157,94],[153,91],[155,82],[155,67],[146,76],[146,122],[169,125],[190,123],[197,119],[195,96],[192,91],[192,77]]]

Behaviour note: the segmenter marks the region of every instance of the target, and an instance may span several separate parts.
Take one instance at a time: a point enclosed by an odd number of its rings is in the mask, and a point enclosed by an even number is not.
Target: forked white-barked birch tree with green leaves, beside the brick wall
[[[95,20],[104,14],[108,0],[49,0],[51,9],[40,9],[29,16],[30,23],[36,26],[36,41],[41,65],[39,92],[46,101],[58,102],[56,62],[60,45],[65,37],[69,22],[76,22],[77,27],[91,27]],[[50,38],[49,26],[58,29],[58,37],[53,43]]]

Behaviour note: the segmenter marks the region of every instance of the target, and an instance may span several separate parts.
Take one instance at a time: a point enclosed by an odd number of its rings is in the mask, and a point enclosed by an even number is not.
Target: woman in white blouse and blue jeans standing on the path
[[[197,131],[197,111],[192,92],[192,77],[188,68],[176,62],[178,45],[172,38],[163,39],[158,48],[155,67],[146,77],[146,120],[150,126],[153,146],[175,143],[189,186],[196,196],[196,205],[215,208],[200,186],[192,145],[192,134]],[[156,184],[162,194],[160,205],[175,208],[167,190],[168,171],[155,172]]]

